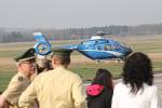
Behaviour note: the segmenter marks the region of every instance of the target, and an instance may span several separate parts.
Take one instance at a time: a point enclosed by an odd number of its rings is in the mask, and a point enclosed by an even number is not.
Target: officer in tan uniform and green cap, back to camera
[[[81,78],[69,71],[71,50],[52,49],[53,70],[42,72],[21,95],[21,108],[31,108],[37,98],[40,108],[85,108]]]

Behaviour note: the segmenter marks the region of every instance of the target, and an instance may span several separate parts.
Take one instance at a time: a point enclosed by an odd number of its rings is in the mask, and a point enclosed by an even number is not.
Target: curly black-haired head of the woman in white
[[[143,84],[152,85],[153,75],[150,58],[140,52],[133,53],[123,66],[123,82],[131,85],[131,92],[136,94]]]

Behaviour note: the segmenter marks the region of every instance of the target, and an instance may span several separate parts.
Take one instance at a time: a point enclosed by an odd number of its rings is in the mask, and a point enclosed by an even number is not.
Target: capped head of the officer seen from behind
[[[70,53],[72,50],[67,49],[52,49],[52,66],[56,68],[57,66],[67,66],[70,64]]]

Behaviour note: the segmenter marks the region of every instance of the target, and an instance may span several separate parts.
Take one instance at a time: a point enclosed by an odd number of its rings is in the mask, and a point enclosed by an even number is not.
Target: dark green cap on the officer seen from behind
[[[63,48],[52,48],[52,55],[63,55],[63,56],[70,56],[72,50],[63,49]]]

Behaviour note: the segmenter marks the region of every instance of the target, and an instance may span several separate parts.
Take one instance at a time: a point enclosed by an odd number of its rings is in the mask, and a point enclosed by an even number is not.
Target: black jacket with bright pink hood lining
[[[86,87],[86,94],[87,108],[111,108],[112,90],[107,90],[99,84],[92,84]]]

